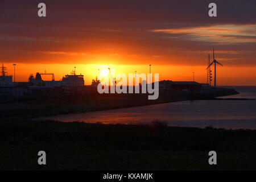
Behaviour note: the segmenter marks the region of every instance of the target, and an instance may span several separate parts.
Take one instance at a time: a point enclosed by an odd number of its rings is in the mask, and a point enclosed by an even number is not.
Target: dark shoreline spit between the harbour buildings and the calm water
[[[26,118],[81,113],[88,111],[101,111],[109,109],[122,109],[135,106],[164,104],[186,100],[208,100],[209,98],[230,96],[238,94],[234,89],[214,88],[204,92],[178,92],[163,90],[157,100],[148,100],[148,94],[92,94],[65,97],[38,96],[31,100],[21,100],[9,104],[2,104],[0,110],[3,118]],[[15,109],[14,108],[15,106]]]

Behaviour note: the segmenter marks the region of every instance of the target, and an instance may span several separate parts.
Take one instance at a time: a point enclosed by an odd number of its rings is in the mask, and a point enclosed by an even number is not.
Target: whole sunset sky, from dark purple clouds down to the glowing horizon
[[[44,2],[47,17],[39,18]],[[256,1],[0,1],[0,63],[16,81],[36,72],[56,80],[77,73],[88,85],[98,69],[206,82],[214,47],[217,85],[256,85]],[[212,67],[213,69],[213,67]],[[46,77],[49,79],[49,77]]]

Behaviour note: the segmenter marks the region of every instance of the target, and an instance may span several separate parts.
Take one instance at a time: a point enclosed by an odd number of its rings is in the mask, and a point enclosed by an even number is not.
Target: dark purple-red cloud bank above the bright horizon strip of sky
[[[37,15],[40,2],[0,2],[2,60],[56,63],[73,59],[89,64],[96,61],[97,55],[106,55],[121,64],[152,60],[155,64],[203,65],[214,46],[220,51],[237,52],[237,59],[218,53],[227,64],[256,65],[255,36],[248,33],[232,40],[231,33],[210,39],[209,35],[188,32],[152,31],[221,28],[226,24],[238,29],[255,26],[256,1],[214,1],[217,18],[208,16],[208,1],[43,1],[47,5],[46,18]],[[195,53],[198,51],[203,52]]]

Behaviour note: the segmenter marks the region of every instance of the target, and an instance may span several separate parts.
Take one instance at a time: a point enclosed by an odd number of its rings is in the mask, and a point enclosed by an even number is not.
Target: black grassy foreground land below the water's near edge
[[[255,170],[256,130],[2,120],[0,169]],[[47,153],[39,166],[38,151]],[[217,165],[208,152],[217,152]]]

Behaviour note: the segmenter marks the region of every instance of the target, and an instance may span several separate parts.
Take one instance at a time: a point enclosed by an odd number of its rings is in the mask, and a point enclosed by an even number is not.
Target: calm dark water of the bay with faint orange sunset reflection
[[[256,86],[230,86],[240,94],[222,98],[256,99]],[[181,101],[108,111],[42,117],[55,121],[102,123],[150,123],[153,119],[169,126],[256,129],[256,100]]]

